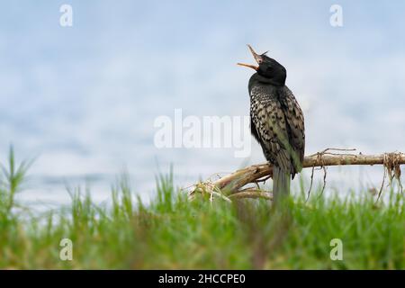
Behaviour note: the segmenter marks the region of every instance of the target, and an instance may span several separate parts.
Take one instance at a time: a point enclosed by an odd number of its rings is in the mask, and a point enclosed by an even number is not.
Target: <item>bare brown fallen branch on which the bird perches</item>
[[[303,168],[325,167],[325,166],[346,166],[346,165],[383,165],[389,176],[400,177],[400,165],[405,164],[405,154],[401,152],[384,153],[381,155],[363,155],[363,154],[336,154],[331,153],[332,150],[345,150],[345,149],[332,149],[328,148],[311,156],[304,157]],[[216,191],[220,190],[225,195],[234,193],[244,193],[239,189],[246,184],[256,183],[261,178],[272,175],[273,167],[269,164],[258,164],[247,166],[230,175],[225,175],[220,179],[211,182],[207,187],[214,187]],[[201,184],[195,186],[190,194],[199,192]],[[199,188],[197,188],[199,187]],[[209,189],[207,189],[209,190]],[[204,190],[204,192],[207,192]],[[201,191],[200,191],[201,192]],[[243,194],[239,194],[240,198]]]

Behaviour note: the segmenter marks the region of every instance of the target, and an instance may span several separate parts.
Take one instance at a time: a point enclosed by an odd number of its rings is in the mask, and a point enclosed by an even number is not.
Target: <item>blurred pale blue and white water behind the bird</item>
[[[59,24],[62,4],[73,26]],[[343,26],[332,27],[332,4]],[[253,63],[246,44],[287,68],[305,113],[306,154],[405,151],[405,3],[401,1],[11,1],[0,10],[0,162],[14,145],[36,157],[26,202],[96,201],[128,171],[148,199],[173,164],[175,184],[264,162],[234,148],[156,148],[154,121],[244,116]],[[250,137],[250,135],[246,135]],[[379,187],[383,168],[330,168],[329,185]],[[310,171],[306,171],[307,179]],[[320,173],[318,177],[322,176]]]

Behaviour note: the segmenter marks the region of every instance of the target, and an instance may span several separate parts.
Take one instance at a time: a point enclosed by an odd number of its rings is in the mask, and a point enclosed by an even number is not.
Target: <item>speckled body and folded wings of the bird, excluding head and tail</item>
[[[250,98],[252,134],[266,159],[295,175],[302,169],[304,124],[293,93],[286,86],[256,86]]]

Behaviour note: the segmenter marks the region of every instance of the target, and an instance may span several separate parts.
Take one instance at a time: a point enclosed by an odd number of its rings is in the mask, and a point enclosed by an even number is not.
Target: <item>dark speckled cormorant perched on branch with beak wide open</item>
[[[258,67],[250,77],[250,129],[273,165],[275,202],[290,193],[291,177],[301,172],[305,148],[304,118],[293,92],[285,85],[287,71],[275,59],[258,55],[247,45]]]

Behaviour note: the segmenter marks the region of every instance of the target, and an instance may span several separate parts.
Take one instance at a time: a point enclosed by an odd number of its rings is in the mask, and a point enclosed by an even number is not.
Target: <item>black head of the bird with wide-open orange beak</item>
[[[244,63],[238,63],[238,65],[255,69],[259,76],[264,77],[273,85],[284,85],[285,78],[287,77],[287,70],[285,70],[283,65],[278,63],[274,58],[266,56],[267,52],[259,55],[250,45],[247,45],[247,47],[257,61],[258,66]]]

